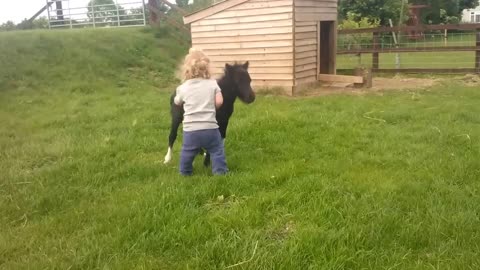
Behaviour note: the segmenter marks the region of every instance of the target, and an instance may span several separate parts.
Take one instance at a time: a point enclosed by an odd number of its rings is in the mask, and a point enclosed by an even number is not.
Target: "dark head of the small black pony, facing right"
[[[255,101],[255,92],[250,85],[252,79],[248,74],[248,65],[248,61],[245,64],[225,64],[224,79],[228,80],[229,84],[233,86],[234,94],[241,101],[250,104]]]

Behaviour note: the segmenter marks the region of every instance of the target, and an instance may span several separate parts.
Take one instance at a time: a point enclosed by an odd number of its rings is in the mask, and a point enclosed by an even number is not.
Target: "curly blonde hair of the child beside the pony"
[[[203,78],[210,79],[210,59],[202,50],[191,48],[182,66],[183,81]]]

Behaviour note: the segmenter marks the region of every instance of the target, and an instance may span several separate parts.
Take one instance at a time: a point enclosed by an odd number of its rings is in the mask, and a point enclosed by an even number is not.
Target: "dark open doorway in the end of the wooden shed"
[[[319,42],[319,73],[335,74],[335,22],[320,21],[318,23]]]

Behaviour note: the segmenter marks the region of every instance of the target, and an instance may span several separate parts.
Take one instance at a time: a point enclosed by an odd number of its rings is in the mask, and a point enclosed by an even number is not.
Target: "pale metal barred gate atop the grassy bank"
[[[52,28],[146,25],[145,0],[46,0]]]

